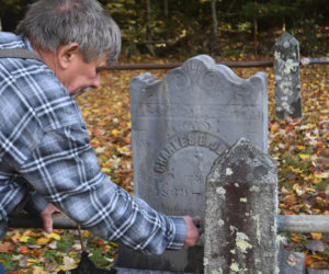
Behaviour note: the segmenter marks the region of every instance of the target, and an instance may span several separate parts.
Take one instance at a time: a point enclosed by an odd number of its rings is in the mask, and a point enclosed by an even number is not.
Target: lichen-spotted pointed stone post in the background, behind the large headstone
[[[275,43],[274,77],[276,117],[302,117],[299,45],[288,33]]]

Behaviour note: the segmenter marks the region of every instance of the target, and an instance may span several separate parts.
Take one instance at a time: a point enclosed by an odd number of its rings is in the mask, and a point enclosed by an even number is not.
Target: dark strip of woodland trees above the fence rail
[[[327,0],[100,0],[123,33],[127,56],[272,54],[284,30],[302,55],[327,55]],[[4,31],[14,30],[33,0],[1,0]]]

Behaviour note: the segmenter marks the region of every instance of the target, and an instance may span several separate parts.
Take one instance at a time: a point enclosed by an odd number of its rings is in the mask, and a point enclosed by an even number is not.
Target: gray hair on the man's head
[[[16,33],[52,53],[78,43],[87,62],[107,54],[110,66],[121,49],[120,28],[97,0],[39,0],[30,5]]]

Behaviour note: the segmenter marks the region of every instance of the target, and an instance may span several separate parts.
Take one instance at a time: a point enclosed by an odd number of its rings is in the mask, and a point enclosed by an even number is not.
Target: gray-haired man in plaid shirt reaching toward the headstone
[[[89,145],[72,98],[100,85],[121,47],[100,3],[39,0],[16,33],[0,33],[0,49],[29,49],[42,60],[0,58],[0,237],[8,214],[32,193],[27,205],[48,230],[59,208],[93,233],[147,253],[195,244],[194,219],[164,216],[113,184]]]

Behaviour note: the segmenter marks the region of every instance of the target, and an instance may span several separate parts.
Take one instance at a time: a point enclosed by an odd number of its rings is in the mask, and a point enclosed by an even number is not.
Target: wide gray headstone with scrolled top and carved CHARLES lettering
[[[268,146],[268,82],[241,79],[201,55],[162,80],[145,73],[131,81],[134,190],[167,215],[204,217],[205,179],[213,161],[240,137]],[[145,255],[123,246],[117,265],[203,272],[203,243]]]

